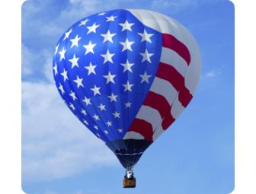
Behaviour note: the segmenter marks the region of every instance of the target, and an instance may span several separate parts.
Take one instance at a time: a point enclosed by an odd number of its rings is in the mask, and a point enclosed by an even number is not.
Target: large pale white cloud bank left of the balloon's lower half
[[[114,154],[85,129],[60,99],[53,84],[22,83],[24,183],[118,164]]]

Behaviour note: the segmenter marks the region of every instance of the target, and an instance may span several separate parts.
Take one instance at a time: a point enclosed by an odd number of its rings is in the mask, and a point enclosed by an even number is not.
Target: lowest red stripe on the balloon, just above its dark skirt
[[[141,134],[146,140],[153,141],[153,129],[152,125],[149,122],[146,122],[142,119],[134,119],[132,125],[130,126],[129,131],[138,132]]]

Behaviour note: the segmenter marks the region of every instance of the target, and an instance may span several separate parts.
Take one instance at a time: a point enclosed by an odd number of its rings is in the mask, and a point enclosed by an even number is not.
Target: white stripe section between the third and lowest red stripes
[[[154,108],[145,105],[142,105],[142,107],[140,107],[136,118],[143,119],[146,122],[149,122],[153,130],[155,130],[159,122],[162,122],[162,117],[159,114],[158,110],[155,110]]]

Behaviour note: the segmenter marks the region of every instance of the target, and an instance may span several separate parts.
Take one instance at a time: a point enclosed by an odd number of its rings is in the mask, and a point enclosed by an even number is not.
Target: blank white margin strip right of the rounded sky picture
[[[232,193],[256,193],[255,126],[255,3],[235,4],[235,189]]]

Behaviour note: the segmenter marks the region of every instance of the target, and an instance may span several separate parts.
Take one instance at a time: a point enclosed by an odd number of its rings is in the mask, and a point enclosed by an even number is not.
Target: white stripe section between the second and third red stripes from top
[[[165,97],[170,105],[178,95],[178,92],[169,81],[158,77],[155,77],[152,86],[150,87],[150,91]]]

